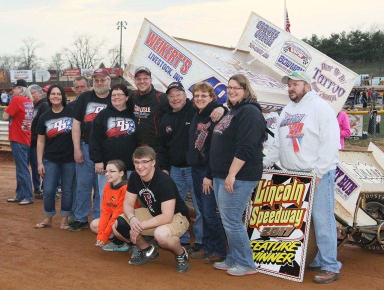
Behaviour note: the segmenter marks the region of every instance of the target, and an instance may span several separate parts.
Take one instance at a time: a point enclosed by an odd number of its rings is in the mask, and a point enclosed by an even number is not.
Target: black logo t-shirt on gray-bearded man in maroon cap
[[[81,122],[81,139],[83,139],[85,143],[89,143],[89,134],[93,119],[106,107],[108,102],[110,102],[110,92],[104,98],[98,97],[93,89],[84,91],[78,96],[76,104],[73,107],[72,116]]]

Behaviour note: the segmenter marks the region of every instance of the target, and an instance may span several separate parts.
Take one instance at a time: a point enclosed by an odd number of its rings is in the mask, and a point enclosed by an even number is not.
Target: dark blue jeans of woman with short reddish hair
[[[202,250],[207,254],[216,254],[225,258],[226,245],[224,228],[217,215],[214,191],[210,194],[202,192],[202,180],[206,174],[205,167],[192,167],[193,191],[198,209],[202,216]]]

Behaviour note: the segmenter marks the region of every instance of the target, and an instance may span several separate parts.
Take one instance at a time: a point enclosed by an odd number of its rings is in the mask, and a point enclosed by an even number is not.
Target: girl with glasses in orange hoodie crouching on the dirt
[[[104,187],[104,195],[101,200],[100,218],[95,218],[90,223],[90,230],[97,233],[96,246],[107,251],[127,251],[131,245],[116,238],[112,233],[112,225],[117,216],[122,214],[126,186],[126,166],[121,160],[110,160],[106,164],[104,175],[108,181]],[[135,208],[138,207],[137,201]],[[111,242],[105,244],[107,240]]]

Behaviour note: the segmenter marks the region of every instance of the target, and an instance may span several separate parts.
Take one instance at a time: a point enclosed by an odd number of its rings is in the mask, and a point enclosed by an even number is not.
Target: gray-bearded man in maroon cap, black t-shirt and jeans
[[[93,89],[81,93],[72,111],[72,140],[74,160],[76,162],[76,197],[74,219],[70,231],[87,228],[88,215],[91,208],[93,192],[92,219],[100,217],[100,195],[98,191],[97,173],[102,174],[104,168],[96,166],[89,159],[88,140],[95,116],[110,102],[110,76],[105,68],[97,68],[92,75]]]

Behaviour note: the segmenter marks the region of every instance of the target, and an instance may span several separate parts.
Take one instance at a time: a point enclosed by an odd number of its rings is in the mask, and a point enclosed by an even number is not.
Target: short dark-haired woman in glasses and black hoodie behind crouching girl
[[[134,169],[132,154],[136,149],[136,127],[128,100],[128,88],[117,83],[110,88],[110,103],[93,120],[89,136],[89,158],[95,163],[95,172],[102,172],[109,160],[122,160],[127,177]],[[98,174],[100,202],[107,182]]]

